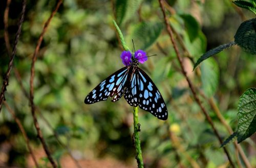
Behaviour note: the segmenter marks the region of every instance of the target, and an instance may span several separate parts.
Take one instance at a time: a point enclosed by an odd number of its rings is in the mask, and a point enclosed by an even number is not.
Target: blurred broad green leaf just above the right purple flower
[[[141,22],[135,25],[130,38],[134,40],[136,49],[146,50],[157,40],[162,29],[161,22]]]

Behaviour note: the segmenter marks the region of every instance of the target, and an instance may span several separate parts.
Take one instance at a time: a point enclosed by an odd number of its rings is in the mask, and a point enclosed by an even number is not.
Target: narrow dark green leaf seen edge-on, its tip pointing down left
[[[209,51],[205,52],[196,62],[195,66],[194,66],[194,69],[204,60],[208,59],[209,57],[211,57],[212,55],[215,55],[217,53],[219,53],[220,51],[222,51],[223,49],[226,49],[226,48],[229,48],[233,45],[235,45],[236,42],[229,42],[227,44],[223,44],[223,45],[220,45],[214,49],[210,49]]]

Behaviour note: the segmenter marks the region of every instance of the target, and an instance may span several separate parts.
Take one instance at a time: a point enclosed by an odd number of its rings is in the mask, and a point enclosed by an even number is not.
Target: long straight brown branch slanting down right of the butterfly
[[[197,93],[196,93],[196,90],[195,90],[195,88],[194,88],[194,85],[193,85],[193,83],[190,81],[190,79],[188,78],[188,76],[187,76],[187,74],[186,74],[186,71],[185,71],[185,69],[184,69],[184,65],[183,65],[183,62],[182,62],[182,59],[181,59],[181,56],[180,56],[178,47],[177,47],[176,42],[175,42],[174,37],[173,37],[172,29],[170,29],[170,25],[169,25],[169,23],[168,23],[168,18],[167,18],[167,16],[165,15],[165,12],[164,12],[163,0],[159,0],[159,4],[160,4],[160,7],[161,7],[161,10],[162,10],[162,13],[163,13],[164,22],[165,22],[165,25],[166,25],[166,30],[167,30],[167,32],[168,32],[168,34],[169,34],[170,40],[171,40],[172,43],[173,43],[173,47],[174,47],[174,50],[175,50],[175,52],[176,52],[177,59],[178,59],[178,61],[179,61],[179,63],[180,63],[180,66],[181,66],[181,69],[182,69],[182,73],[183,73],[184,77],[186,78],[186,80],[187,80],[187,82],[188,82],[189,89],[191,90],[191,92],[192,92],[192,94],[193,94],[193,97],[194,97],[194,99],[196,100],[197,104],[200,106],[201,110],[203,111],[203,114],[205,115],[206,120],[209,122],[209,124],[210,124],[212,130],[214,131],[215,135],[217,136],[217,138],[218,138],[220,144],[222,144],[222,139],[221,139],[221,137],[220,137],[219,132],[218,132],[217,129],[215,128],[214,123],[212,122],[212,120],[211,120],[210,116],[208,115],[206,109],[203,107],[202,103],[200,102],[200,99],[199,99],[199,97],[198,97],[198,95],[197,95]],[[225,152],[226,155],[227,155],[227,158],[228,158],[228,160],[229,160],[230,165],[231,165],[232,167],[234,167],[234,164],[233,164],[233,162],[232,162],[232,160],[231,160],[231,157],[230,157],[229,154],[228,154],[227,149],[226,149],[225,147],[224,147],[223,149],[224,149],[224,152]]]

